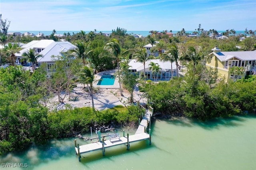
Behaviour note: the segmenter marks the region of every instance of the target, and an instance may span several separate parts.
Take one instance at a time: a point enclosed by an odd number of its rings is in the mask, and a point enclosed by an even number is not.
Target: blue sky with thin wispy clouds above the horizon
[[[256,30],[255,0],[0,0],[9,30]]]

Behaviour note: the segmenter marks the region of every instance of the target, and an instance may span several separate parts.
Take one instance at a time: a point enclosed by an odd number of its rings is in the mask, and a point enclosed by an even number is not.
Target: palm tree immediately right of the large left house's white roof
[[[92,50],[89,50],[89,43],[85,43],[84,41],[76,43],[76,49],[70,51],[76,53],[76,56],[82,59],[84,65],[86,64],[86,59],[89,58],[92,53]]]

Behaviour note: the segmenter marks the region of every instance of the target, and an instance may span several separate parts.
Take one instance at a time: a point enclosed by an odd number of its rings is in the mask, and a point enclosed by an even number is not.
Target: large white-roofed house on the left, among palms
[[[47,72],[50,73],[53,71],[52,67],[55,64],[52,56],[61,55],[61,52],[66,52],[70,49],[75,49],[76,46],[68,41],[54,41],[48,39],[42,40],[34,40],[26,45],[22,46],[22,50],[19,53],[16,53],[17,62],[22,64],[23,66],[30,66],[32,63],[26,61],[24,57],[22,57],[22,53],[27,52],[29,49],[34,49],[36,53],[42,55],[37,61],[36,66],[40,66],[43,63],[47,64]],[[21,60],[22,59],[22,60]]]

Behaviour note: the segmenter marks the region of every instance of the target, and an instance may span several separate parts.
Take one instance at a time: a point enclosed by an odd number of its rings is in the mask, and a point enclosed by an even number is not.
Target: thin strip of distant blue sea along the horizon
[[[52,33],[52,31],[8,31],[8,32],[20,32],[20,33],[25,33],[25,32],[30,32],[30,33],[34,33],[35,35],[38,35],[39,33],[42,34],[44,33],[44,35],[50,35]],[[57,34],[64,34],[64,33],[70,33],[71,35],[73,35],[73,33],[79,33],[79,31],[58,31],[56,30]],[[85,33],[89,33],[90,31],[85,31]],[[100,31],[96,31],[96,33],[99,33]],[[101,31],[102,33],[112,33],[112,31]],[[158,31],[158,32],[162,32],[162,31]],[[168,31],[169,32],[169,31]],[[172,31],[173,34],[177,33],[178,31]],[[222,32],[226,32],[226,31],[218,31],[218,33],[222,33]],[[151,33],[149,33],[149,31],[127,31],[126,33],[128,34],[137,34],[137,35],[142,35],[143,37],[146,37],[148,35],[150,35]],[[186,31],[186,33],[193,33],[193,31]],[[236,34],[244,34],[244,31],[236,31]]]

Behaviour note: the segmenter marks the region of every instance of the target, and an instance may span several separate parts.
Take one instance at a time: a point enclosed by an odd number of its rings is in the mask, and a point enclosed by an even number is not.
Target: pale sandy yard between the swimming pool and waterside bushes
[[[99,76],[100,74],[96,75]],[[117,78],[115,80],[118,82]],[[119,86],[118,86],[119,87]],[[117,105],[124,106],[118,98],[122,98],[123,101],[127,101],[130,97],[130,94],[127,90],[122,88],[124,96],[120,96],[119,88],[96,88],[96,92],[94,92],[94,107],[95,109],[102,110],[106,108],[112,108]],[[112,93],[116,93],[117,97]],[[138,91],[138,87],[136,86],[134,90],[134,100],[140,101],[140,103],[146,103],[145,99],[141,98],[142,93]],[[78,98],[77,101],[71,101],[75,97]],[[77,84],[77,87],[72,90],[70,93],[70,99],[67,95],[64,99],[64,104],[60,104],[58,102],[58,96],[55,96],[50,100],[48,103],[48,107],[50,109],[64,109],[67,104],[71,107],[92,107],[92,97],[90,96],[89,92],[84,89],[83,84]]]

